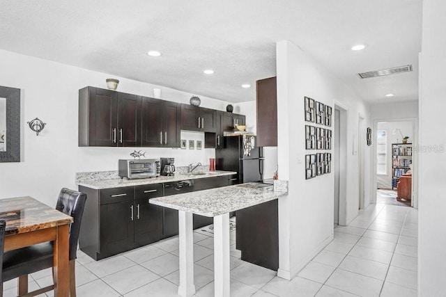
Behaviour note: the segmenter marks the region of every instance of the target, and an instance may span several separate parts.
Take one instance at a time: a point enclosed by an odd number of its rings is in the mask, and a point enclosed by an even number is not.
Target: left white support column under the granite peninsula
[[[195,294],[192,213],[179,210],[178,220],[178,239],[180,241],[180,285],[178,287],[178,295],[189,297]]]

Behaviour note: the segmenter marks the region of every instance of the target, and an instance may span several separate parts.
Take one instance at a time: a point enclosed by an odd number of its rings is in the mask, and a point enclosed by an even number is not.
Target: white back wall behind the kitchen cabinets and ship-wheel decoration
[[[153,97],[153,88],[161,88],[161,98],[189,103],[192,96],[178,90],[123,79],[111,74],[45,61],[30,56],[0,51],[2,86],[21,89],[22,161],[0,163],[0,198],[31,195],[54,205],[64,186],[77,188],[75,172],[117,170],[118,159],[129,159],[132,147],[78,147],[78,90],[85,86],[107,88],[105,79],[120,80],[118,91]],[[201,106],[226,110],[229,102],[199,96]],[[39,136],[26,122],[40,118],[47,126]],[[203,133],[183,131],[182,139],[203,141]],[[215,156],[215,150],[137,148],[147,158],[171,156],[177,166],[201,162]]]

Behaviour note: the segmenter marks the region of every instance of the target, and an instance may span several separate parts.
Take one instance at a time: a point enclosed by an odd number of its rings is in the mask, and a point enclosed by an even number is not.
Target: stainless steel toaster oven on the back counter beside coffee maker
[[[118,161],[118,175],[123,178],[137,179],[159,177],[161,171],[160,160],[137,159]]]

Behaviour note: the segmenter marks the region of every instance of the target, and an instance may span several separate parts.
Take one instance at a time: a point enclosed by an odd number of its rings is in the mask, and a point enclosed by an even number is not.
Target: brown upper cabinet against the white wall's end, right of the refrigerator
[[[257,145],[277,147],[277,79],[256,81]]]

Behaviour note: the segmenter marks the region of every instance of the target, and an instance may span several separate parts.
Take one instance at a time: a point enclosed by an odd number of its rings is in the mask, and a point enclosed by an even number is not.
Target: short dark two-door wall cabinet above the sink
[[[217,131],[217,111],[181,104],[181,129],[187,131]]]

